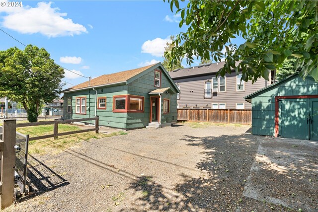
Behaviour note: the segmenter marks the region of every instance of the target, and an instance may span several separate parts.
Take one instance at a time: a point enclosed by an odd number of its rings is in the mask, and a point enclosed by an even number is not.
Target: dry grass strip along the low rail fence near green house
[[[16,130],[22,134],[30,135],[31,137],[43,136],[53,134],[54,125],[42,125],[42,126],[32,126],[32,127],[22,127]],[[70,124],[59,124],[59,133],[71,132],[81,130],[79,126]],[[54,138],[42,139],[29,141],[29,153],[30,154],[56,154],[62,152],[64,149],[80,145],[81,141],[89,141],[90,139],[99,139],[104,137],[112,137],[118,135],[127,135],[126,132],[113,132],[110,134],[99,133],[96,134],[94,131],[79,133],[67,136],[60,136],[58,140]]]

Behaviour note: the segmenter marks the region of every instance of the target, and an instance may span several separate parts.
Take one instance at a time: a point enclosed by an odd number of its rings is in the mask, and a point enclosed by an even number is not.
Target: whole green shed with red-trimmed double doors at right
[[[318,141],[318,83],[298,73],[244,97],[252,134]]]

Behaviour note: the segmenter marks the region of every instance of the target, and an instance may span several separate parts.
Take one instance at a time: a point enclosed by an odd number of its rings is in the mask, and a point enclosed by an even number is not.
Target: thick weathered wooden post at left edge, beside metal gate
[[[13,203],[16,120],[3,120],[3,149],[1,149],[1,209]]]

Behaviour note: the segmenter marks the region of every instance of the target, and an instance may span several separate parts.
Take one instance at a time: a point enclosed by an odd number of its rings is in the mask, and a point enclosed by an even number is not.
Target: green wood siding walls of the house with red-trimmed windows
[[[161,70],[162,71],[162,70]],[[161,72],[161,87],[170,87],[173,90],[173,82],[171,82],[164,71]],[[150,119],[150,95],[149,92],[158,89],[154,86],[155,71],[145,71],[140,77],[130,82],[128,85],[119,85],[112,87],[101,87],[97,89],[97,97],[106,97],[106,109],[97,109],[96,115],[100,117],[99,124],[101,126],[115,127],[122,129],[134,129],[146,127]],[[175,90],[176,92],[176,90]],[[113,96],[114,95],[137,95],[143,96],[144,112],[143,113],[114,113]],[[169,123],[176,122],[176,94],[164,94],[164,98],[170,100],[170,112],[168,114],[162,113],[161,122]],[[68,98],[72,98],[72,113],[68,113]],[[76,98],[86,97],[86,114],[76,114]],[[163,111],[163,98],[161,101],[161,111]],[[79,119],[92,118],[95,116],[95,91],[85,89],[64,94],[64,118],[65,119]],[[87,121],[86,123],[94,124],[94,121]]]

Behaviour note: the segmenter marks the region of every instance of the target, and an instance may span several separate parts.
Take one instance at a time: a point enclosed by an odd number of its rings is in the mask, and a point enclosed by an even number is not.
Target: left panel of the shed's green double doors
[[[279,136],[308,140],[308,115],[308,99],[281,99],[279,101]]]

